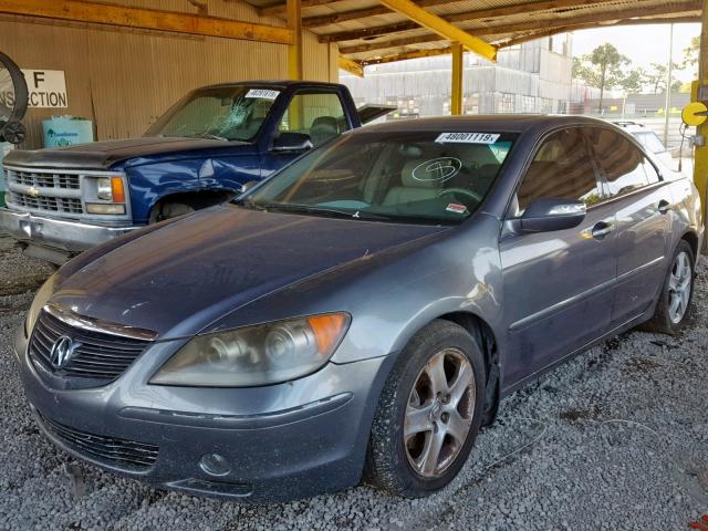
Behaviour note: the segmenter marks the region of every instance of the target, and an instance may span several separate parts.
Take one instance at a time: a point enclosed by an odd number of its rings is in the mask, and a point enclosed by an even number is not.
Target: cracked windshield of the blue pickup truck
[[[252,140],[280,91],[219,86],[195,91],[178,102],[146,136]]]

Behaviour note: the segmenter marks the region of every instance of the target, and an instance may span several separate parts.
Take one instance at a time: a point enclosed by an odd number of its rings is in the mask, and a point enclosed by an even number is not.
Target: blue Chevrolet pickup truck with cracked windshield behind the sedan
[[[308,149],[388,113],[357,110],[344,85],[253,81],[198,88],[139,138],[4,159],[0,232],[63,263],[149,223],[212,206]]]

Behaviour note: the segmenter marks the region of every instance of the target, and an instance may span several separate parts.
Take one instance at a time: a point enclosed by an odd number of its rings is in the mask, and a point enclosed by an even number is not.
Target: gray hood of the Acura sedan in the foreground
[[[446,229],[220,206],[152,230],[75,271],[70,262],[52,301],[162,339],[187,336],[298,281]]]

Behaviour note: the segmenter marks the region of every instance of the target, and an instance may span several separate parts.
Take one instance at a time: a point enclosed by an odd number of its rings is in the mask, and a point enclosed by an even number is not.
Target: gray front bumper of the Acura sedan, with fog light
[[[149,385],[148,375],[178,347],[166,342],[153,344],[106,386],[60,389],[38,373],[27,344],[20,332],[15,355],[25,394],[42,430],[59,447],[158,487],[249,502],[357,485],[391,362],[385,356],[330,363],[304,378],[256,388]],[[111,438],[112,451],[115,440],[132,441],[128,455],[135,445],[150,445],[157,457],[140,469],[126,467],[106,458],[113,454],[96,446],[102,438]],[[226,464],[219,473],[202,465],[215,454]]]

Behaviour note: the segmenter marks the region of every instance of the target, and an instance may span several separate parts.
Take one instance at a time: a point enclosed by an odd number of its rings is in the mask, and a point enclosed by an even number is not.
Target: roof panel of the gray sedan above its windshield
[[[434,118],[416,118],[415,121],[387,122],[385,124],[368,125],[364,131],[372,133],[404,133],[404,132],[504,132],[524,133],[529,129],[551,129],[573,125],[604,125],[603,119],[586,116],[543,115],[543,114],[488,114],[473,116],[439,116]]]

